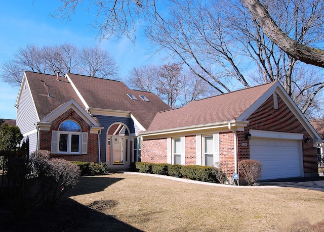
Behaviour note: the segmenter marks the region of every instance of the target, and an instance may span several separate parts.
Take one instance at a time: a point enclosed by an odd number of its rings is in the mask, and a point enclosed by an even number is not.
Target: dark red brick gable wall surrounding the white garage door
[[[238,160],[250,158],[250,144],[245,139],[245,134],[249,132],[249,129],[302,133],[304,134],[304,139],[311,137],[279,96],[278,109],[273,108],[273,97],[271,96],[247,121],[250,123],[245,128],[245,131],[237,131]],[[247,143],[248,146],[242,147],[242,142]],[[312,141],[309,144],[302,142],[302,149],[304,173],[317,172],[317,152],[316,148],[313,147]]]

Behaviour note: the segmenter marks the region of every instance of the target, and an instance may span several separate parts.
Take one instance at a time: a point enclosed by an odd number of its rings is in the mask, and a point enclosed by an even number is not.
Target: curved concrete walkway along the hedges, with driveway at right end
[[[195,183],[195,184],[204,184],[204,185],[212,185],[223,188],[255,188],[255,189],[266,189],[266,188],[284,188],[284,187],[292,187],[292,188],[302,188],[309,190],[317,190],[324,192],[324,177],[319,176],[316,178],[289,178],[289,179],[279,179],[273,181],[260,181],[257,183],[257,186],[237,186],[237,185],[229,185],[229,184],[220,184],[220,183],[209,183],[204,181],[197,181],[191,179],[183,179],[166,175],[157,175],[157,174],[148,174],[148,173],[140,173],[140,172],[123,172],[125,174],[131,175],[146,175],[146,176],[154,176],[158,178],[171,179],[175,181],[181,181],[186,183]]]

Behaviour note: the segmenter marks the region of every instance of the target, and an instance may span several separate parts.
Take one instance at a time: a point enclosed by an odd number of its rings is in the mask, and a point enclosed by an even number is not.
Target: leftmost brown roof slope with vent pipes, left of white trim
[[[27,71],[25,73],[39,119],[44,118],[70,99],[74,99],[84,107],[65,77],[59,77],[59,80],[56,80],[56,75]]]

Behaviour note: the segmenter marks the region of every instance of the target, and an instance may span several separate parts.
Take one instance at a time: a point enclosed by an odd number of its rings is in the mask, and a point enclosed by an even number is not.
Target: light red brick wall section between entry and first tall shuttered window
[[[141,161],[148,163],[167,163],[167,138],[143,140]]]

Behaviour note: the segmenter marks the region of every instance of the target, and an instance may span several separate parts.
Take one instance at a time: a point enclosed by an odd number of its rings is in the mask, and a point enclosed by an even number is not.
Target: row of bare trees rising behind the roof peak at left
[[[79,50],[74,45],[37,47],[27,45],[14,53],[14,59],[0,65],[1,78],[19,86],[24,71],[62,75],[75,73],[101,78],[117,78],[118,66],[113,57],[99,47]]]

